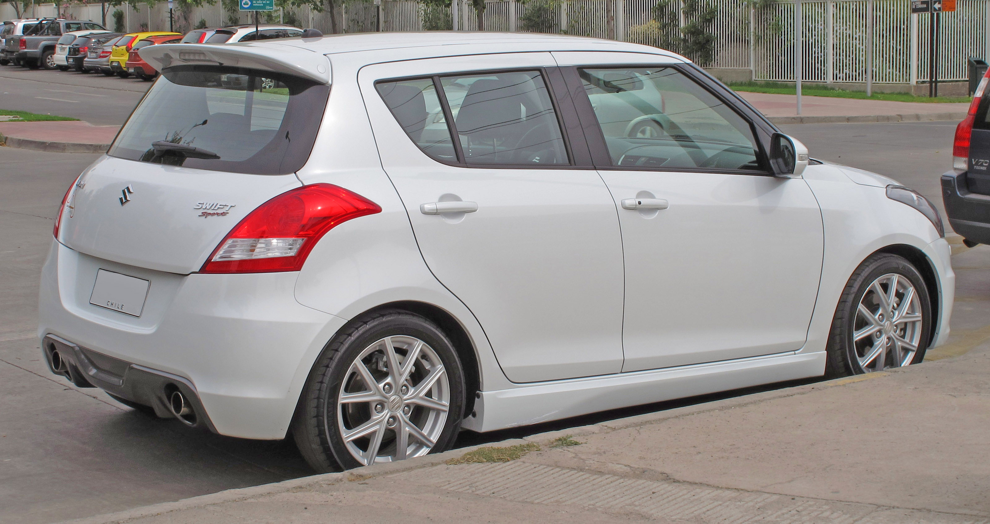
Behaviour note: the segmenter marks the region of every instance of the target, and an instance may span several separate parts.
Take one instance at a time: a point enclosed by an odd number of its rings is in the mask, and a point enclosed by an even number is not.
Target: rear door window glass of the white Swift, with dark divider
[[[568,163],[540,71],[398,80],[380,82],[377,89],[403,130],[438,160],[477,166]]]

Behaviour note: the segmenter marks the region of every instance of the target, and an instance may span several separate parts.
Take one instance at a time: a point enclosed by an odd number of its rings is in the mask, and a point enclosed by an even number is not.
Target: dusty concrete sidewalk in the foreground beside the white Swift
[[[73,522],[988,523],[988,256],[953,257],[958,332],[919,366],[497,444],[539,444],[508,463],[446,465],[461,449]]]

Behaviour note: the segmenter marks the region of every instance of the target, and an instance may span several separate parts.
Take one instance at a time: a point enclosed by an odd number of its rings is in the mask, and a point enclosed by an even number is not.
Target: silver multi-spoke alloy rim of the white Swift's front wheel
[[[853,320],[852,343],[863,372],[912,363],[921,342],[923,314],[914,285],[888,273],[866,288]]]

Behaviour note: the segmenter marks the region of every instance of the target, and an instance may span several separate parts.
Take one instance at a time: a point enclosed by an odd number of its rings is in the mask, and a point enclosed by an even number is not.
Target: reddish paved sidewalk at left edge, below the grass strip
[[[8,147],[53,153],[106,152],[119,129],[82,121],[0,122],[0,135]]]

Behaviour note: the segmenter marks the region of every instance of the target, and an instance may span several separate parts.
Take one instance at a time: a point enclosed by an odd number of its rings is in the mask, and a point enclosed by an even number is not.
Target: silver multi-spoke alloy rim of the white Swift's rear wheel
[[[444,432],[449,405],[449,380],[437,352],[419,338],[387,336],[350,364],[337,399],[337,425],[360,464],[420,457]]]

